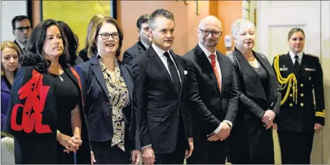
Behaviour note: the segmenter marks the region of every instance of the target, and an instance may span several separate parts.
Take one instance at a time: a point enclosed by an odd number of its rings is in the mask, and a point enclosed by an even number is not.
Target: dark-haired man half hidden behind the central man
[[[134,59],[134,57],[145,52],[145,50],[150,47],[152,39],[150,38],[148,32],[149,18],[150,16],[148,14],[141,15],[138,18],[138,21],[136,22],[136,27],[138,28],[138,42],[124,52],[124,55],[122,57],[122,62],[124,62],[124,64],[129,65],[131,60]]]

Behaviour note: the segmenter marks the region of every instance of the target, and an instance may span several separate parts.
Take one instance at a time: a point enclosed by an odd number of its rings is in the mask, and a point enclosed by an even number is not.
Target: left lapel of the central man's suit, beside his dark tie
[[[170,74],[168,73],[166,67],[164,66],[164,63],[162,62],[162,59],[159,58],[159,56],[157,55],[157,52],[155,52],[154,48],[150,47],[148,49],[148,57],[150,57],[152,60],[150,60],[151,64],[154,65],[159,73],[162,74],[162,76],[164,77],[164,79],[166,80],[166,82],[168,83],[168,85],[171,87],[171,89],[173,91],[175,91],[173,82],[172,82],[172,78],[170,76]]]

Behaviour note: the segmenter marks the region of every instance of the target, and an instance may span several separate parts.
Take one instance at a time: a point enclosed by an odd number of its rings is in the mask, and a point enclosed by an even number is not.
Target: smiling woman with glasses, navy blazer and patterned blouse
[[[118,59],[123,38],[115,19],[96,20],[88,36],[91,58],[76,66],[96,164],[138,164],[141,156],[131,67]]]

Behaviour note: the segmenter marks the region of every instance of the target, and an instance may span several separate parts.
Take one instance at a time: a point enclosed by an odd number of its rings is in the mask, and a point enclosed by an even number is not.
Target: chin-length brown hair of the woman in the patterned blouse
[[[98,36],[97,34],[99,34],[99,30],[101,29],[102,25],[106,24],[106,23],[115,25],[115,27],[118,31],[119,46],[118,46],[115,57],[118,58],[120,56],[120,49],[122,48],[122,40],[124,39],[124,34],[122,33],[122,28],[119,26],[119,24],[118,24],[117,20],[115,20],[115,18],[104,17],[103,19],[97,20],[94,23],[94,26],[92,27],[92,30],[89,33],[89,36],[88,36],[89,44],[88,44],[88,53],[87,53],[88,57],[92,57],[95,54],[94,52],[97,49],[97,47],[96,47],[96,37]]]

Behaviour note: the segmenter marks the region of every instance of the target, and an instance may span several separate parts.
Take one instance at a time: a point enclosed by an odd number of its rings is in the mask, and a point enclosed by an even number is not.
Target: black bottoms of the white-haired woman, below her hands
[[[231,164],[274,164],[272,129],[236,124],[230,143]]]

